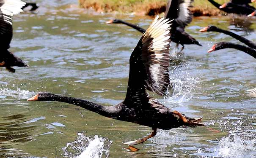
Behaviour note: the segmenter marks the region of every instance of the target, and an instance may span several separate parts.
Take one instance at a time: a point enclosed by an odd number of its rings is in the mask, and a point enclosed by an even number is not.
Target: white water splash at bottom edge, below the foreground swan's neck
[[[94,138],[86,137],[83,133],[77,134],[77,140],[67,143],[63,147],[64,157],[68,158],[102,158],[109,156],[109,149],[112,141],[95,135]],[[80,155],[79,155],[80,154]]]

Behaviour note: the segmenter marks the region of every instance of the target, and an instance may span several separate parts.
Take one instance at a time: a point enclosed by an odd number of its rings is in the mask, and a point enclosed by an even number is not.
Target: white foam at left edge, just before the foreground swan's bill
[[[0,96],[11,96],[17,99],[28,99],[34,94],[34,91],[21,90],[21,88],[16,88],[16,90],[5,87],[0,88]]]

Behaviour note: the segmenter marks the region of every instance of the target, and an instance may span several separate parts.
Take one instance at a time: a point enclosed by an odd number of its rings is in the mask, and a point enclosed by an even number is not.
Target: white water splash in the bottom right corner
[[[222,158],[256,158],[256,135],[249,129],[251,125],[244,123],[243,119],[234,116],[221,118],[218,123],[220,129],[228,130],[228,136],[217,141],[212,148],[198,149],[193,155]]]

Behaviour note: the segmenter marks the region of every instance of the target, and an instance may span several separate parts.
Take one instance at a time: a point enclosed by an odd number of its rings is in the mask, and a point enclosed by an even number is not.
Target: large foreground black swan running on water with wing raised
[[[123,102],[113,106],[103,106],[82,99],[57,96],[39,92],[28,101],[57,101],[83,107],[108,118],[149,126],[153,132],[142,139],[126,142],[137,145],[154,137],[157,129],[172,129],[179,126],[204,126],[201,118],[188,118],[177,111],[156,102],[146,90],[165,96],[170,85],[169,49],[170,29],[168,19],[157,16],[139,40],[130,57],[127,94]]]

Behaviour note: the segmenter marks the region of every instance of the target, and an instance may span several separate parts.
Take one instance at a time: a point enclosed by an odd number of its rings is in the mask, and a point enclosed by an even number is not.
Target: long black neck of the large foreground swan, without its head
[[[79,107],[82,107],[84,109],[90,110],[92,112],[96,112],[100,115],[113,118],[113,113],[116,113],[112,108],[107,106],[102,106],[93,102],[89,102],[83,99],[77,99],[67,96],[57,96],[55,95],[52,97],[51,101],[57,101],[57,102],[65,102],[73,105],[77,105]]]

